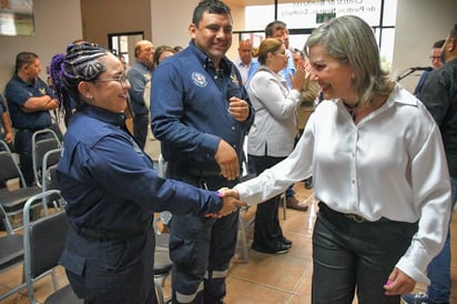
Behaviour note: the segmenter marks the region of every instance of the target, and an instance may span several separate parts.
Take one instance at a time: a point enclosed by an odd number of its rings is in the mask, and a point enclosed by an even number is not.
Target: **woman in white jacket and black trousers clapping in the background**
[[[292,79],[293,89],[288,89],[286,80],[278,74],[286,67],[288,55],[283,42],[274,38],[262,41],[257,57],[261,67],[248,89],[255,119],[248,134],[247,154],[260,174],[294,149],[296,109],[306,72],[299,67]],[[281,230],[278,205],[280,195],[276,195],[257,206],[252,245],[255,251],[281,254],[292,246]]]

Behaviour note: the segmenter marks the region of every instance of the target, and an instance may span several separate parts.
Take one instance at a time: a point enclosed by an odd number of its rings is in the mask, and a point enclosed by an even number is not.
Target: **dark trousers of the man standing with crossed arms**
[[[14,135],[14,151],[19,154],[19,165],[28,186],[33,184],[33,150],[31,130],[18,130]],[[37,140],[51,138],[51,134],[40,134]]]

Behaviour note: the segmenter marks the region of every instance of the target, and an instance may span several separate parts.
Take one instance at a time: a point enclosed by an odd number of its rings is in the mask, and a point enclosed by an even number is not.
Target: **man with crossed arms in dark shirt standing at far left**
[[[52,90],[39,79],[40,72],[38,55],[20,52],[16,57],[16,72],[4,90],[12,126],[16,129],[14,150],[19,154],[27,185],[33,184],[33,132],[51,126],[49,111],[59,107]]]

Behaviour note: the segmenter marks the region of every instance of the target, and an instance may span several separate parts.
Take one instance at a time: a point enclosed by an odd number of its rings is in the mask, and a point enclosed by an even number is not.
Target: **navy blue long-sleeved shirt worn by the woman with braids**
[[[101,230],[136,226],[154,212],[217,213],[217,193],[158,176],[125,129],[125,115],[91,105],[70,120],[58,180],[69,219]]]

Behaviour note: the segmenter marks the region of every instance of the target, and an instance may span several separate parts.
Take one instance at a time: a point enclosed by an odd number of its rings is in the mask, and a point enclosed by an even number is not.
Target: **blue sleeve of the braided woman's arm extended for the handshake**
[[[215,192],[159,178],[130,142],[116,136],[105,136],[98,142],[85,166],[103,188],[144,210],[202,215],[217,213],[222,206]]]

